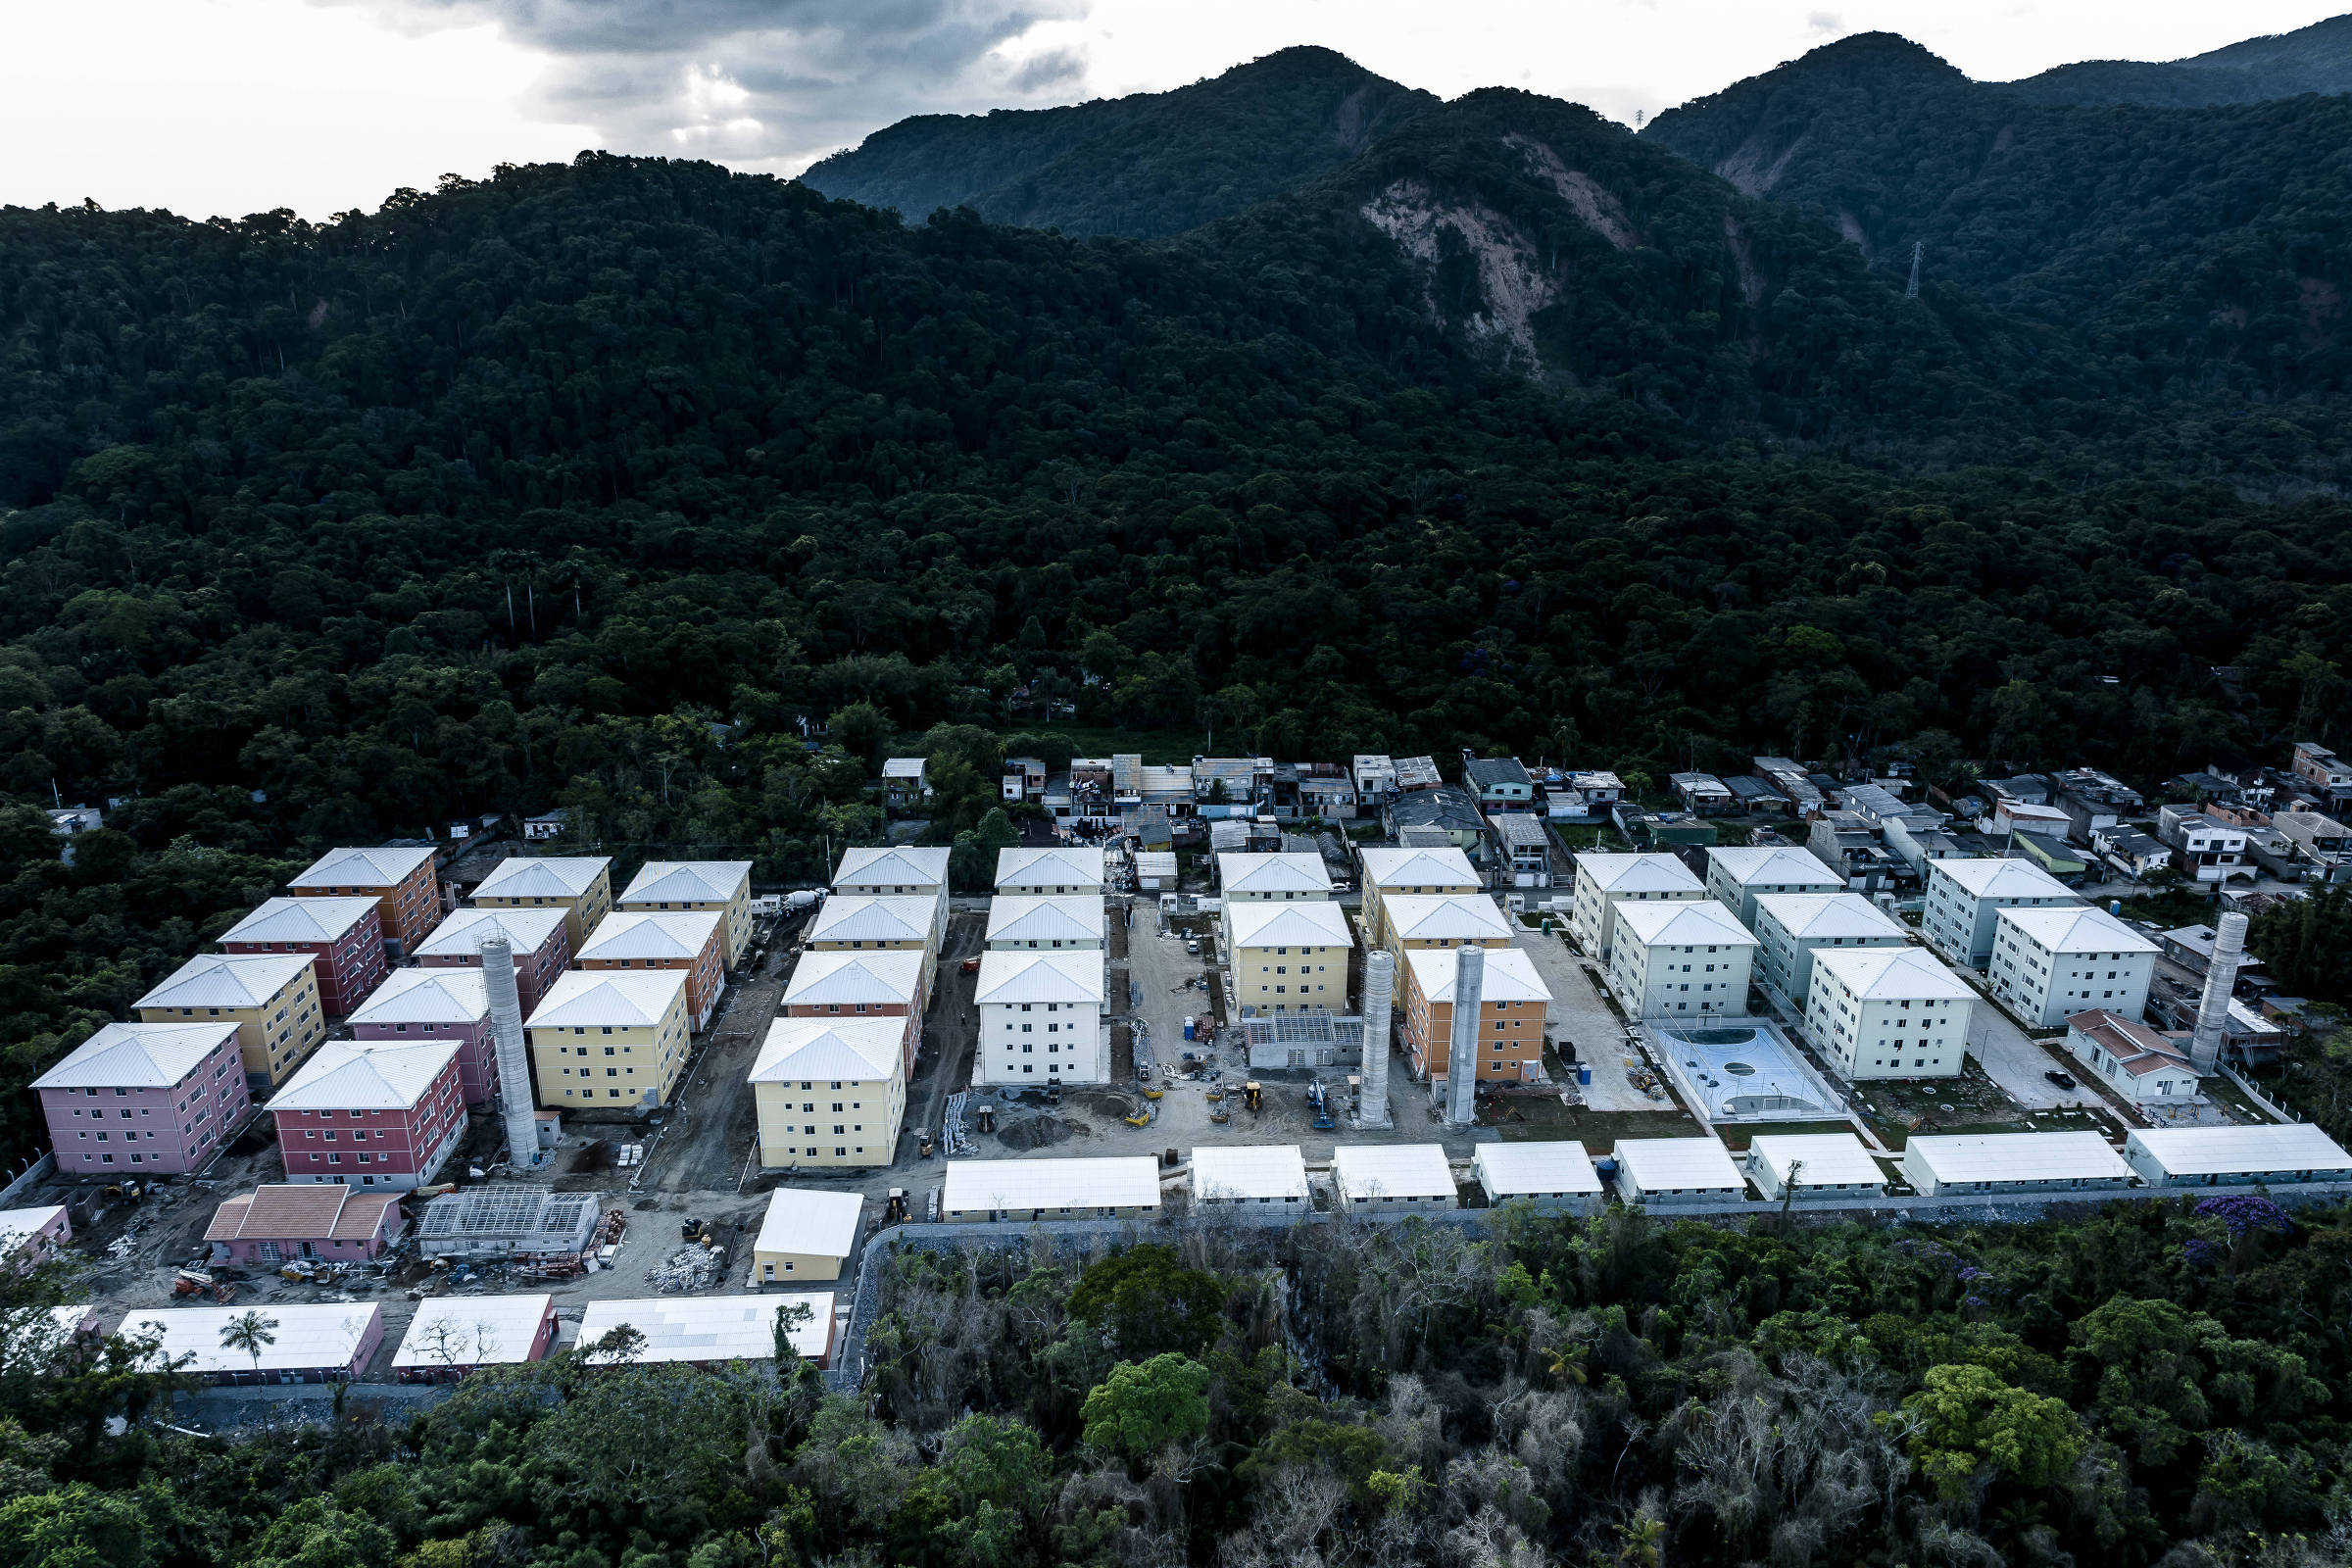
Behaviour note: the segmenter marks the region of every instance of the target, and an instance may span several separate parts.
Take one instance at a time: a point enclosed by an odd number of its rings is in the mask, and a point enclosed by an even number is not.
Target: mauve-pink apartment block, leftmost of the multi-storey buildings
[[[245,1124],[238,1023],[111,1023],[33,1079],[56,1168],[68,1175],[181,1175]]]

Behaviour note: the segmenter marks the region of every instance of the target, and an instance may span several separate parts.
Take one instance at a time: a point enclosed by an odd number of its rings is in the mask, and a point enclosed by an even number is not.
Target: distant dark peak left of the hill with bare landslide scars
[[[971,207],[1070,235],[1174,235],[1343,165],[1430,108],[1432,94],[1298,47],[1174,92],[917,115],[802,179],[908,221]]]

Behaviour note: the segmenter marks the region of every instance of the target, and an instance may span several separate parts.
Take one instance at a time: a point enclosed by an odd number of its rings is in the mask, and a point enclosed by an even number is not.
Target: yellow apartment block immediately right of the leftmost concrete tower
[[[522,1027],[546,1110],[642,1114],[687,1072],[687,976],[567,971]]]

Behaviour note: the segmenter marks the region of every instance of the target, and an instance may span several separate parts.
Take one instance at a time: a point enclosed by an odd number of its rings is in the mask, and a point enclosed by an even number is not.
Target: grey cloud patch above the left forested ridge
[[[496,24],[548,56],[532,113],[619,153],[797,172],[906,115],[1077,96],[1075,49],[997,54],[1087,0],[329,0]]]

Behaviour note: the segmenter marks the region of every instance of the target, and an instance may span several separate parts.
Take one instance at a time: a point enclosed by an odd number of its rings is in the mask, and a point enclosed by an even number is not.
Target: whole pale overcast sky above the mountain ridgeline
[[[795,174],[915,113],[1155,92],[1317,42],[1618,120],[1863,31],[1980,80],[2178,59],[2345,0],[7,0],[0,202],[376,207],[499,162]]]

